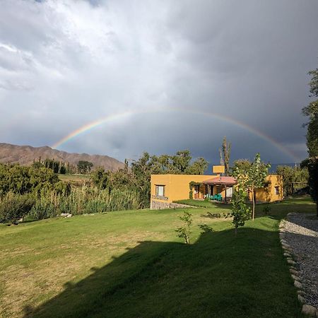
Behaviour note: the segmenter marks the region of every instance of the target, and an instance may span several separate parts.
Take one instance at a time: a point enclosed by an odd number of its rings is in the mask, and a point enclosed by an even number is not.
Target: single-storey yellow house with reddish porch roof
[[[189,199],[190,195],[193,199],[202,200],[206,196],[220,194],[222,201],[228,201],[232,197],[235,178],[220,176],[224,172],[223,166],[213,166],[213,172],[216,175],[151,175],[151,208],[171,208],[175,206],[174,201]],[[266,186],[256,191],[256,200],[283,200],[283,178],[268,175]]]

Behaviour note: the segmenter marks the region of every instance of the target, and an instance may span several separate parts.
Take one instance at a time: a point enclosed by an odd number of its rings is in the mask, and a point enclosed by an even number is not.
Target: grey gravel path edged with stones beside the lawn
[[[318,308],[318,220],[313,214],[289,213],[284,229],[298,263],[306,303]]]

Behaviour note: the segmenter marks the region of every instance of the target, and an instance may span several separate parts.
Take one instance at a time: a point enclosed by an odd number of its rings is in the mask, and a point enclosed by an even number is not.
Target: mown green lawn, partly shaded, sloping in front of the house
[[[187,208],[192,245],[176,237],[182,209],[1,225],[0,317],[301,317],[278,223],[315,206],[271,207],[237,238],[211,216],[230,206]]]

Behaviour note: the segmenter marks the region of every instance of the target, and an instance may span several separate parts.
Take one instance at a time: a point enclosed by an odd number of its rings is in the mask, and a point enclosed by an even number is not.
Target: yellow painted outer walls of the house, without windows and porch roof
[[[216,175],[151,175],[151,201],[159,201],[172,203],[172,201],[189,199],[189,183],[204,182],[207,179],[212,179]],[[257,189],[257,201],[281,201],[283,200],[283,178],[278,175],[269,175],[266,177],[269,182],[267,189]],[[165,186],[165,197],[155,196],[155,185]],[[275,187],[279,187],[279,194],[275,194]],[[213,188],[216,192],[216,187]],[[192,189],[194,192],[194,189]],[[200,187],[200,199],[203,199],[204,185]],[[216,193],[213,193],[216,194]],[[224,197],[224,191],[221,192]],[[252,197],[250,196],[250,199]]]

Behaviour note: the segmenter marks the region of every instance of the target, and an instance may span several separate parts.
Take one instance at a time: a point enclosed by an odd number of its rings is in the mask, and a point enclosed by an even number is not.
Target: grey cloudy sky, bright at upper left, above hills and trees
[[[227,136],[233,160],[307,155],[317,0],[0,6],[0,142],[119,160],[190,149],[218,163]]]

